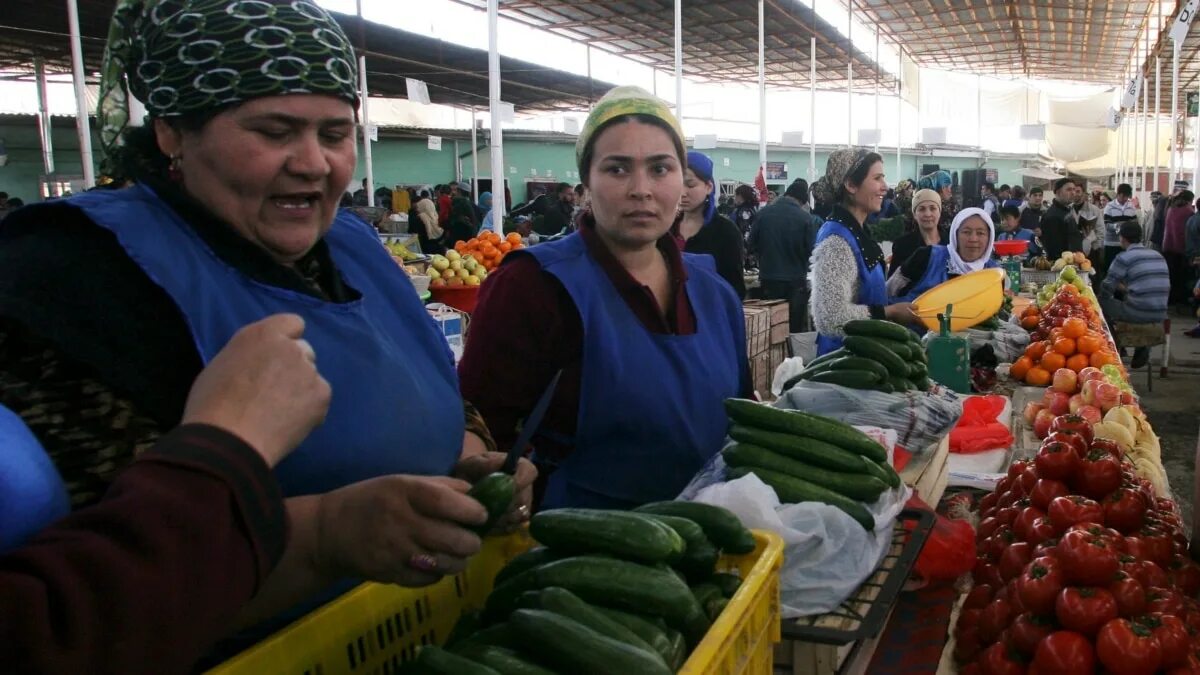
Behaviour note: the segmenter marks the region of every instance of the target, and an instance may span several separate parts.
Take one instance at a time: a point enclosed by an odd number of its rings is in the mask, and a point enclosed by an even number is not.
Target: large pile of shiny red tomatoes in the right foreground
[[[1200,673],[1200,566],[1175,502],[1086,419],[1056,418],[979,516],[961,673]]]

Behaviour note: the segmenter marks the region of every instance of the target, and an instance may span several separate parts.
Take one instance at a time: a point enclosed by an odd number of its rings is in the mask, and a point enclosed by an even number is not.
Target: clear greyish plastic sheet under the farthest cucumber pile
[[[962,414],[962,398],[944,387],[926,393],[884,394],[802,381],[774,405],[847,424],[894,429],[896,442],[913,454],[936,448]]]

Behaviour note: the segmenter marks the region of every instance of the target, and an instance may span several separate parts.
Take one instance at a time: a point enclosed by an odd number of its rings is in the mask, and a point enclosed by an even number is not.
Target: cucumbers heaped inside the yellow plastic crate
[[[667,675],[688,659],[742,579],[721,552],[752,552],[737,515],[697,502],[631,512],[562,508],[529,521],[541,545],[497,574],[481,613],[412,668],[440,675]]]

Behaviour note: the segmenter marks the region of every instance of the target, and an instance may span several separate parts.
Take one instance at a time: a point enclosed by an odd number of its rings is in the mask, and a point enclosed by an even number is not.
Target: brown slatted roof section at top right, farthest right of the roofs
[[[811,0],[810,0],[811,1]],[[841,0],[920,66],[1122,84],[1152,0]]]

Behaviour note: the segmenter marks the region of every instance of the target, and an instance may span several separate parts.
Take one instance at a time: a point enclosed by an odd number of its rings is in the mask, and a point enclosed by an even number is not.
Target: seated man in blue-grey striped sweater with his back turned
[[[1109,274],[1100,285],[1100,303],[1110,322],[1160,323],[1166,318],[1166,298],[1171,292],[1171,276],[1166,259],[1141,243],[1141,226],[1126,222],[1118,231],[1122,252],[1109,265]],[[1150,360],[1150,348],[1138,347],[1133,368]]]

